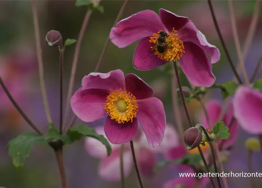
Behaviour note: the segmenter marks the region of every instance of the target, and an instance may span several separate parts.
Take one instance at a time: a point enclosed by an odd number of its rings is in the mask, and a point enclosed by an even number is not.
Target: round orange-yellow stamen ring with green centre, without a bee
[[[138,111],[136,97],[121,88],[110,92],[104,106],[111,120],[116,120],[118,123],[133,122]]]

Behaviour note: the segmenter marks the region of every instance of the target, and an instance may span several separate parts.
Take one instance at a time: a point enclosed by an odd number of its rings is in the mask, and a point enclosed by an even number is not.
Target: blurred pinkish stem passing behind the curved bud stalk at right
[[[208,112],[207,112],[207,108],[206,106],[204,105],[202,99],[200,98],[200,103],[202,105],[202,108],[203,108],[203,111],[204,111],[204,114],[206,116],[206,119],[207,119],[207,124],[208,124],[208,127],[209,127],[209,130],[213,130],[212,126],[211,126],[211,123],[210,123],[210,118],[209,118],[209,115],[208,115]],[[221,169],[221,171],[223,172],[224,171],[224,167],[223,167],[223,164],[222,164],[222,160],[219,156],[219,147],[214,144],[214,149],[216,151],[216,154],[217,154],[217,160],[218,160],[218,164],[219,164],[219,167]],[[226,178],[224,176],[222,176],[222,180],[223,180],[223,184],[224,184],[224,187],[225,188],[228,188],[228,184],[227,184],[227,181],[226,181]]]

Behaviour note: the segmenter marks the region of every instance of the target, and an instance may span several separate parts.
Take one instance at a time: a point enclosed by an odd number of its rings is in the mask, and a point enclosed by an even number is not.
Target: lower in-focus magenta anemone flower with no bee
[[[165,131],[163,103],[153,90],[134,74],[124,76],[122,70],[90,73],[82,79],[82,87],[71,98],[75,115],[84,122],[98,120],[108,114],[104,131],[113,144],[131,141],[138,121],[148,144],[159,146]]]

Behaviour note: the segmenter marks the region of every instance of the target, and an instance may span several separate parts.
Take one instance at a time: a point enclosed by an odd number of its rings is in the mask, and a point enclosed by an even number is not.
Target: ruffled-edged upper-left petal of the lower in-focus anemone
[[[125,75],[122,70],[109,73],[90,73],[82,79],[83,89],[105,89],[109,91],[125,89]]]

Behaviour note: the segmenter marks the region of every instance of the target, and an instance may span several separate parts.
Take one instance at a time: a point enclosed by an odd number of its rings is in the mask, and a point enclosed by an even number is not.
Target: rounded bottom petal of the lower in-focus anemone
[[[124,144],[136,136],[138,129],[136,118],[133,118],[133,122],[124,123],[118,123],[116,120],[111,120],[110,118],[110,116],[107,116],[104,130],[108,140],[112,144]]]

